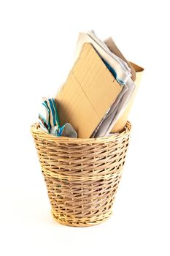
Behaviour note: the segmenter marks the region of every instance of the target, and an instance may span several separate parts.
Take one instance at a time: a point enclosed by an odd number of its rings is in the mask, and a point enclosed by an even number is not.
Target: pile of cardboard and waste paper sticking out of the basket
[[[72,138],[122,131],[142,70],[124,58],[112,38],[102,42],[93,31],[80,33],[66,82],[55,101],[43,98],[41,128]]]

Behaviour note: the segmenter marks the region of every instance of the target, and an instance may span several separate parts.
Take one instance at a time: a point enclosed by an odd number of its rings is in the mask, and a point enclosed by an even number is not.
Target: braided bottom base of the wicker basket
[[[74,219],[74,220],[66,220],[67,217],[61,217],[59,214],[56,214],[53,209],[51,210],[51,213],[53,214],[53,218],[56,222],[65,225],[65,226],[71,226],[71,227],[90,227],[94,225],[98,225],[102,222],[105,222],[109,217],[112,215],[112,211],[107,212],[107,214],[102,214],[98,217],[91,217],[91,218],[82,218],[82,219]]]

